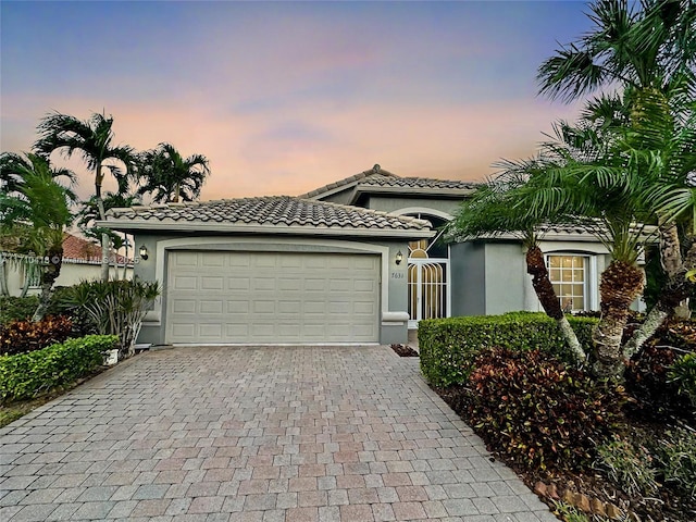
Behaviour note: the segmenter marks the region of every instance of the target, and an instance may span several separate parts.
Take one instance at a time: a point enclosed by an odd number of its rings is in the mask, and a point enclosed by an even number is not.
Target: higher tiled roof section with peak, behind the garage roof
[[[402,195],[431,195],[444,197],[461,197],[471,194],[478,184],[473,182],[435,179],[430,177],[399,177],[380,165],[330,183],[321,188],[307,192],[301,198],[322,199],[335,192],[355,189],[351,202],[362,192],[391,192]]]

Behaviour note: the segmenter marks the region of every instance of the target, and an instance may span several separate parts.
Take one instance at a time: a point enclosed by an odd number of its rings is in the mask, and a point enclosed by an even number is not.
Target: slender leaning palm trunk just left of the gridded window
[[[542,303],[542,308],[544,308],[544,311],[549,318],[556,320],[556,323],[570,348],[573,359],[577,364],[582,364],[587,356],[585,355],[585,350],[583,350],[580,340],[577,340],[575,332],[568,322],[568,318],[566,318],[566,314],[561,309],[561,303],[558,300],[558,297],[556,297],[554,285],[551,284],[551,279],[548,277],[548,270],[544,262],[544,253],[538,246],[533,246],[526,251],[526,272],[532,275],[532,286],[534,287],[536,297]]]

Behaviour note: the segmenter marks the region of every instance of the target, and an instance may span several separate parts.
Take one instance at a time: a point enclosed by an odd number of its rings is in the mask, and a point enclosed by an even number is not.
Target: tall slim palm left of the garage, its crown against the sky
[[[49,156],[61,150],[70,158],[76,151],[95,175],[95,198],[99,217],[105,220],[101,188],[108,171],[117,182],[119,191],[125,190],[132,173],[134,151],[128,146],[113,145],[113,117],[95,113],[88,121],[58,112],[47,114],[38,126],[39,139],[34,145],[39,154]],[[115,164],[114,164],[115,162]],[[109,164],[107,164],[109,163]],[[121,166],[120,166],[121,165]],[[109,279],[109,235],[101,235],[101,277]]]

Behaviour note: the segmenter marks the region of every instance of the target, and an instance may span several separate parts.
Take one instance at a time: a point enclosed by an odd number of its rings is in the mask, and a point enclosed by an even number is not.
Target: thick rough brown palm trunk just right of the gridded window
[[[643,286],[643,271],[623,261],[613,260],[601,274],[601,319],[592,334],[596,359],[593,370],[599,377],[623,376],[621,337],[631,303],[641,295]]]

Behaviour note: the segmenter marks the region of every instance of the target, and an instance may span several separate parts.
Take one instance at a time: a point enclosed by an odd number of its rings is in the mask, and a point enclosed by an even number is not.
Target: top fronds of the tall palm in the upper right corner
[[[593,32],[562,46],[538,69],[540,91],[576,100],[602,87],[634,91],[634,102],[694,87],[693,0],[597,0]],[[692,90],[693,94],[693,90]],[[639,109],[639,107],[637,107]]]

